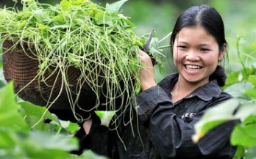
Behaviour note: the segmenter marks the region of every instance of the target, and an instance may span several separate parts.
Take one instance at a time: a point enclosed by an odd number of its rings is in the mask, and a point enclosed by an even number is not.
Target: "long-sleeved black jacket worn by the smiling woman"
[[[197,144],[191,139],[193,125],[205,110],[232,97],[222,92],[217,80],[212,79],[172,103],[170,92],[177,78],[178,74],[169,75],[158,86],[141,92],[135,99],[135,108],[127,113],[127,119],[132,114],[132,121],[119,127],[118,133],[107,131],[106,127],[105,133],[99,133],[102,126],[93,129],[87,136],[93,144],[87,149],[111,159],[232,158],[236,150],[230,145],[233,122],[213,128]]]

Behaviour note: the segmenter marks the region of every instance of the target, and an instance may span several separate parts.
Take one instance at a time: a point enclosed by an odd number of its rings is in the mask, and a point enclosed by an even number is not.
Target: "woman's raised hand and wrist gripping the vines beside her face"
[[[139,77],[141,81],[141,90],[144,91],[152,86],[157,86],[157,83],[154,81],[154,66],[150,56],[141,50],[138,54],[141,59],[141,63],[143,64]]]

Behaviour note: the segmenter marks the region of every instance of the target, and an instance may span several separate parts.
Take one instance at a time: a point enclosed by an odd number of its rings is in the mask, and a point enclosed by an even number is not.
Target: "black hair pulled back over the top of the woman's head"
[[[224,32],[224,23],[221,15],[210,6],[205,4],[193,6],[182,12],[177,18],[171,34],[170,44],[174,45],[174,40],[179,31],[187,26],[202,26],[218,42],[219,51],[223,51],[224,44],[227,45]],[[172,48],[171,48],[172,51]]]

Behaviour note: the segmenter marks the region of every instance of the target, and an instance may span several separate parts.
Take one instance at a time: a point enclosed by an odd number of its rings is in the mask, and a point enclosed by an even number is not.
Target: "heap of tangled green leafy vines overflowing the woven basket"
[[[125,111],[132,105],[132,97],[141,90],[138,70],[143,66],[137,52],[143,48],[148,35],[136,36],[132,31],[135,25],[120,14],[119,9],[126,1],[100,7],[89,0],[62,0],[54,6],[23,0],[22,11],[14,8],[0,10],[1,39],[13,42],[13,47],[7,51],[20,45],[24,53],[27,50],[34,53],[39,70],[33,80],[43,82],[49,78],[45,76],[47,73],[50,76],[60,74],[62,88],[71,99],[74,90],[68,83],[66,72],[69,67],[76,67],[81,70],[75,86],[77,97],[82,84],[88,84],[96,95],[92,109],[101,103],[109,106],[105,108],[107,111]],[[158,48],[159,42],[155,33],[149,53],[158,64],[163,64],[165,58]],[[99,101],[99,95],[104,96],[103,103]],[[122,108],[115,106],[116,98],[121,98]],[[76,101],[69,100],[72,111]],[[51,107],[51,103],[46,107]],[[75,112],[74,116],[78,121],[83,120]]]

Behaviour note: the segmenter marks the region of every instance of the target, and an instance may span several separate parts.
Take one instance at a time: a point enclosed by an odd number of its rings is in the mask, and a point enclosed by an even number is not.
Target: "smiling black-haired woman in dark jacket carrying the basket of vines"
[[[220,89],[226,75],[218,63],[227,51],[221,16],[206,5],[185,10],[177,18],[171,46],[178,73],[159,84],[150,57],[139,52],[144,64],[142,92],[134,104],[139,122],[134,118],[135,129],[123,127],[121,140],[110,140],[110,158],[232,158],[235,154],[236,148],[230,145],[232,122],[210,130],[197,144],[191,138],[194,124],[207,108],[232,98]]]

